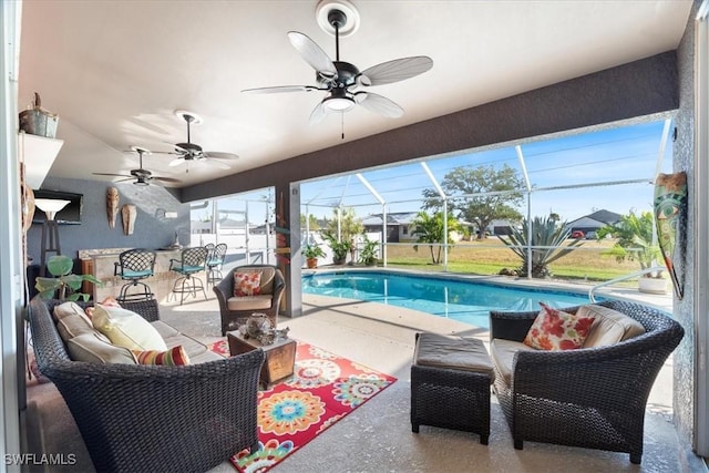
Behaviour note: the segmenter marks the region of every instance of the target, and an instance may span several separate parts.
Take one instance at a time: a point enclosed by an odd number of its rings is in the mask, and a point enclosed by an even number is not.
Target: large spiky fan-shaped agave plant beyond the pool
[[[569,229],[566,223],[559,223],[549,217],[534,217],[532,219],[532,239],[530,240],[528,220],[522,220],[522,228],[513,227],[508,236],[497,237],[510,249],[522,258],[520,274],[526,274],[532,256],[532,277],[544,278],[552,276],[548,265],[568,255],[574,248],[582,246],[580,239],[567,241]],[[527,247],[532,247],[530,253]]]

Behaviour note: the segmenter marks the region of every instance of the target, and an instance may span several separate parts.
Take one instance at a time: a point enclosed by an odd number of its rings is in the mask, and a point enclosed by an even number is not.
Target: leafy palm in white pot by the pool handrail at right
[[[614,256],[618,263],[626,258],[637,261],[643,270],[657,266],[656,261],[661,260],[661,253],[659,245],[654,240],[654,226],[655,220],[650,212],[637,215],[630,210],[628,215],[621,216],[619,222],[598,230],[598,238],[606,235],[617,238],[616,244],[603,255]],[[641,292],[665,294],[667,279],[662,277],[661,270],[646,273],[638,280],[638,289]]]

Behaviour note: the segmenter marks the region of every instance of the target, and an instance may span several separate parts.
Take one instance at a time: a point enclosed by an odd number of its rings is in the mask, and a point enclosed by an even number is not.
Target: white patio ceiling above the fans
[[[24,1],[20,109],[39,92],[59,114],[64,141],[51,176],[101,179],[127,173],[132,145],[172,151],[186,141],[176,110],[198,114],[193,143],[240,157],[144,166],[177,187],[341,143],[339,115],[308,124],[321,92],[243,94],[269,85],[315,85],[287,32],[300,31],[331,58],[335,39],[316,22],[317,0]],[[371,92],[400,104],[401,119],[362,107],[343,116],[345,140],[404,126],[677,48],[691,1],[363,1],[361,22],[340,41],[360,70],[429,55],[433,69]],[[110,177],[105,178],[111,181]]]

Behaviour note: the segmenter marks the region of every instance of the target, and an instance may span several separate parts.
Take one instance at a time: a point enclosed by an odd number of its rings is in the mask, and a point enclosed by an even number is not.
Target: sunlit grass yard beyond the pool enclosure
[[[640,269],[636,261],[626,260],[620,264],[613,257],[602,256],[612,246],[613,240],[584,241],[576,250],[549,265],[554,279],[598,282]],[[418,251],[408,245],[390,245],[387,247],[387,256],[391,267],[431,271],[443,269],[443,265],[431,263],[430,249],[424,245],[419,246]],[[503,268],[517,269],[522,266],[522,259],[497,238],[459,243],[451,248],[448,258],[448,270],[452,273],[496,275]]]

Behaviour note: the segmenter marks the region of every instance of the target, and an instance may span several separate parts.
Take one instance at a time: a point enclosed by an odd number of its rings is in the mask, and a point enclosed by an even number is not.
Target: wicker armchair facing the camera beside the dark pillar
[[[261,273],[259,296],[242,296],[234,294],[234,275],[236,273]],[[280,298],[286,289],[282,273],[271,265],[247,265],[232,269],[222,281],[214,286],[219,301],[222,315],[222,335],[246,322],[254,312],[266,313],[273,327],[278,325]]]

